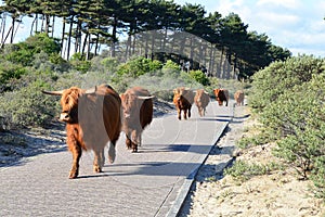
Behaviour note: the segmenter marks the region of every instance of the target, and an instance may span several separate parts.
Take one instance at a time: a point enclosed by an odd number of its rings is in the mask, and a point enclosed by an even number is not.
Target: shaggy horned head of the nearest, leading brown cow
[[[61,95],[61,106],[62,112],[60,114],[60,120],[74,124],[78,123],[78,102],[79,99],[87,94],[93,94],[96,91],[96,87],[88,90],[82,90],[77,87],[72,87],[69,89],[60,91],[46,91],[44,94]]]

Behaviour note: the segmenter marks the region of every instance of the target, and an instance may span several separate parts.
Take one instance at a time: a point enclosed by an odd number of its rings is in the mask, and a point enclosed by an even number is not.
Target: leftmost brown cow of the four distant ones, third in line
[[[181,113],[184,112],[184,119],[191,117],[191,107],[194,102],[194,93],[192,90],[181,87],[173,89],[173,104],[178,110],[178,117],[181,119]],[[187,113],[188,112],[188,113]]]

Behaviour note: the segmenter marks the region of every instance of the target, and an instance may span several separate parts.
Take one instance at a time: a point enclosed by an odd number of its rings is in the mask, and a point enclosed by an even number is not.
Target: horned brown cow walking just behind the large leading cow
[[[123,108],[123,127],[126,144],[132,152],[138,152],[141,145],[141,135],[153,120],[153,95],[146,89],[133,87],[120,95]]]

